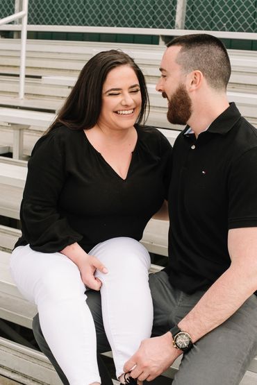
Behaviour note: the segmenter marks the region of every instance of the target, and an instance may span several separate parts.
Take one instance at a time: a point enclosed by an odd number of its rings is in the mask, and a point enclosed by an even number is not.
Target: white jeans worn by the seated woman
[[[90,254],[108,269],[107,274],[97,271],[95,275],[103,282],[103,323],[119,377],[140,341],[151,335],[150,257],[144,246],[126,237],[99,243]],[[61,253],[19,246],[11,256],[10,269],[24,298],[38,305],[44,338],[69,384],[101,382],[94,321],[76,264]]]

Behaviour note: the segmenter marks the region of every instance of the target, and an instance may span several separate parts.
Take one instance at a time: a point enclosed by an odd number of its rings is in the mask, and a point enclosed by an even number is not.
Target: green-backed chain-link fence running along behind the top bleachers
[[[1,0],[0,19],[20,0]],[[257,32],[256,0],[29,0],[28,24]]]

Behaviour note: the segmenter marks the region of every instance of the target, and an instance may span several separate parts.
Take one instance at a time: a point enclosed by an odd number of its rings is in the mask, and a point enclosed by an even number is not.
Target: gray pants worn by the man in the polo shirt
[[[153,336],[164,334],[179,323],[204,295],[204,291],[188,295],[174,289],[163,271],[150,275],[149,284],[154,302]],[[100,293],[88,291],[87,294],[97,330],[97,348],[99,352],[106,352],[110,350],[110,346],[103,328]],[[126,311],[123,316],[126,316]],[[121,322],[123,316],[120,318]],[[33,332],[42,352],[55,366],[63,384],[69,384],[42,336],[38,316],[33,320]],[[253,295],[229,320],[206,334],[184,355],[172,385],[237,385],[256,354],[257,297]],[[102,384],[111,384],[100,357],[99,370]]]

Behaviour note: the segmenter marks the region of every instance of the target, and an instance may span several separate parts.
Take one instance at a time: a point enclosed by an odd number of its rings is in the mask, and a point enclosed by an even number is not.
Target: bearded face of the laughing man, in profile
[[[176,63],[180,46],[169,47],[160,63],[160,80],[156,89],[168,100],[167,119],[173,124],[185,125],[192,114],[192,101],[185,87],[185,74]]]

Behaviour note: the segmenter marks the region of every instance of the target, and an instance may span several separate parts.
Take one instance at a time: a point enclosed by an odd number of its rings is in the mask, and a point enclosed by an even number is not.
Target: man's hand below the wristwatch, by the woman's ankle
[[[167,370],[180,354],[181,350],[176,350],[172,345],[170,332],[145,339],[138,351],[125,363],[124,373],[131,372],[131,377],[140,381],[152,381]]]

